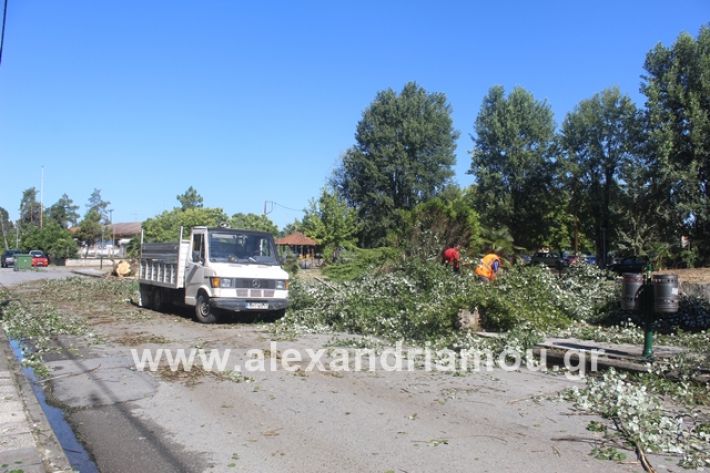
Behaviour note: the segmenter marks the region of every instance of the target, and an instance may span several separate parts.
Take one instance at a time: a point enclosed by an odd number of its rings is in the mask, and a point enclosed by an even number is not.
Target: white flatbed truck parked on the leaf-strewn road
[[[216,322],[218,310],[280,317],[288,305],[288,273],[266,232],[194,227],[172,243],[141,237],[139,284],[141,306],[193,306],[202,323]]]

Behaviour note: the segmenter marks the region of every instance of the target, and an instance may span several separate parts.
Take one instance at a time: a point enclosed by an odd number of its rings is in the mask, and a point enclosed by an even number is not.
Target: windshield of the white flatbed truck
[[[210,232],[209,258],[214,263],[278,264],[271,235],[247,232]]]

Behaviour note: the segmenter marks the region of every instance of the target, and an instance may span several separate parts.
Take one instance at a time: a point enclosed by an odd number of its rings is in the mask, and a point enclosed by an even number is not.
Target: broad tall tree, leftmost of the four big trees
[[[377,94],[334,180],[363,222],[363,244],[383,244],[398,226],[397,210],[412,209],[441,191],[453,175],[457,138],[444,94],[414,82],[400,94]]]

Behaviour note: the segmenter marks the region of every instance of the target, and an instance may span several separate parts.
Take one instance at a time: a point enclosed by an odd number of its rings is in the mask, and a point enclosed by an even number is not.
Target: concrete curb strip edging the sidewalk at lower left
[[[29,421],[28,427],[34,438],[34,447],[42,459],[44,471],[47,473],[74,471],[32,391],[32,386],[30,386],[29,381],[22,373],[20,363],[15,359],[10,341],[2,329],[0,329],[0,356],[4,356],[7,361],[8,371],[11,373],[11,379],[14,381],[15,388],[24,406]]]

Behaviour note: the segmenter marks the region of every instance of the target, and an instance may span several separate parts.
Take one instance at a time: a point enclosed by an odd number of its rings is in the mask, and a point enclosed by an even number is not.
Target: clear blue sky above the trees
[[[469,185],[488,89],[521,86],[560,123],[618,86],[637,103],[645,54],[696,36],[710,2],[9,0],[0,64],[0,206],[94,188],[114,221],[177,205],[261,213],[318,195],[380,90],[443,92]],[[299,212],[274,207],[283,226]]]

